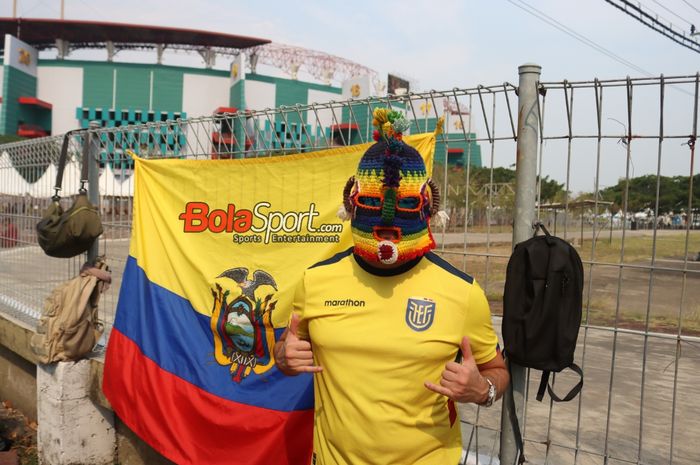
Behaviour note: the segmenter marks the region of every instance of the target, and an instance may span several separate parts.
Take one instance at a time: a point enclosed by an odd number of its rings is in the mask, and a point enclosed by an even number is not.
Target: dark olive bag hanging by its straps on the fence
[[[84,157],[80,174],[80,189],[78,197],[68,210],[63,210],[60,204],[61,182],[63,171],[68,158],[68,144],[72,131],[63,136],[61,158],[56,174],[56,193],[52,197],[49,208],[36,225],[39,245],[46,255],[59,258],[70,258],[86,252],[102,234],[102,222],[97,208],[87,198],[85,183],[88,179],[87,157]]]

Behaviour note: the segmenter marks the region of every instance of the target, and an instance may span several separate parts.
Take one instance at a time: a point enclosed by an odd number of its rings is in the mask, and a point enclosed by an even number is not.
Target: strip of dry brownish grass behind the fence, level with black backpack
[[[698,237],[698,233],[693,236]],[[653,263],[650,258],[639,256],[639,251],[637,255],[632,252],[623,267],[618,257],[610,253],[590,263],[588,254],[581,251],[582,323],[700,335],[700,262],[684,260],[682,254],[663,242],[682,237],[683,232],[668,231],[659,241]],[[649,238],[630,239],[630,243],[651,249]],[[448,247],[443,256],[476,278],[486,292],[492,312],[501,315],[510,243],[496,242],[488,248],[477,244],[466,250],[470,255],[463,256],[461,247]]]

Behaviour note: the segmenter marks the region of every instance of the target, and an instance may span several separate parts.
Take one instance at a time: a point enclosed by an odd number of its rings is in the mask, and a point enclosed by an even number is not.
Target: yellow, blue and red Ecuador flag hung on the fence
[[[432,166],[433,134],[406,136]],[[369,144],[245,160],[136,158],[134,223],[103,390],[179,464],[310,463],[313,383],[272,348]]]

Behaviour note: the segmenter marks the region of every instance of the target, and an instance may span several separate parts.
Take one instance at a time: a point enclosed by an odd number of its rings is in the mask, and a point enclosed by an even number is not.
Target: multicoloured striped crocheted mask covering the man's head
[[[365,152],[357,174],[348,180],[344,205],[351,214],[354,253],[369,262],[391,265],[435,248],[430,216],[440,200],[423,158],[401,140],[408,128],[403,115],[378,109],[374,124],[378,142]]]

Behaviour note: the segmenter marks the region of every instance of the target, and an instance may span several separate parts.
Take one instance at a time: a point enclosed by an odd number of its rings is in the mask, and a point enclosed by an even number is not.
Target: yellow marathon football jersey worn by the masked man
[[[477,364],[496,356],[488,302],[471,276],[433,253],[378,270],[352,249],[306,270],[294,299],[312,344],[315,465],[452,465],[454,406],[438,383],[469,336]]]

